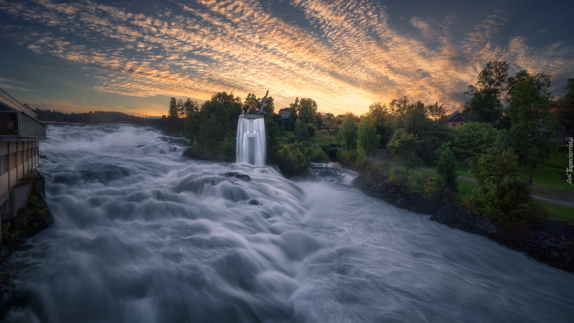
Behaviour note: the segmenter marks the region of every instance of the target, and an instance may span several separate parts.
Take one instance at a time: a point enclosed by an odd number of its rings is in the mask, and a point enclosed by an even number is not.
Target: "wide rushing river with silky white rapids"
[[[574,320],[574,275],[344,179],[189,160],[148,128],[48,137],[55,223],[11,257],[8,322]]]

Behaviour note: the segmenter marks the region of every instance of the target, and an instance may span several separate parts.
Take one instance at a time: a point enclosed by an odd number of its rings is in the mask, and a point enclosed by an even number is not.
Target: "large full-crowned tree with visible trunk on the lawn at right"
[[[518,164],[528,172],[531,185],[534,169],[544,166],[550,153],[556,150],[558,127],[550,114],[552,94],[549,87],[550,75],[527,74],[522,81],[515,83],[506,109],[506,116],[510,119],[507,132],[510,146],[518,153]]]

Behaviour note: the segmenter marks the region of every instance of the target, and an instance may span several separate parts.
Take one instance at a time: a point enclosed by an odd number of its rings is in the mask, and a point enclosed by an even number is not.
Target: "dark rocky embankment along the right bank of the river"
[[[574,272],[574,226],[572,225],[544,220],[535,228],[510,231],[498,222],[468,213],[456,206],[440,205],[421,196],[404,194],[402,187],[396,183],[374,183],[364,175],[359,175],[353,184],[367,195],[383,199],[401,209],[429,214],[432,216],[430,220],[451,228],[480,234],[511,249],[525,252],[540,262]]]

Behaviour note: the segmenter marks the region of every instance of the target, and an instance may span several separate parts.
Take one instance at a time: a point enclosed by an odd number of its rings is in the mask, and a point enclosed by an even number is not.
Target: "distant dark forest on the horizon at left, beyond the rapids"
[[[90,111],[82,113],[64,113],[60,111],[32,109],[40,121],[76,122],[81,124],[129,124],[141,120],[133,114],[116,111]]]

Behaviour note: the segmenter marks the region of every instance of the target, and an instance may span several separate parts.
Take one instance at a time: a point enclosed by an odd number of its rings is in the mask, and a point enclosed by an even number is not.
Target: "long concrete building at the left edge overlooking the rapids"
[[[44,139],[46,139],[46,125],[38,121],[36,113],[0,89],[0,214],[2,221],[14,217],[26,205],[32,185],[21,187],[16,184],[26,174],[33,174],[38,166],[38,144]]]

